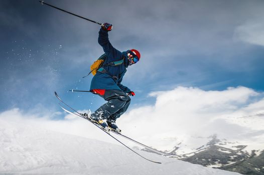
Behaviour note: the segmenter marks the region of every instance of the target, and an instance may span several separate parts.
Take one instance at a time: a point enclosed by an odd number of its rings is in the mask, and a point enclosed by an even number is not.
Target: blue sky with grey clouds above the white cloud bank
[[[98,22],[113,24],[109,39],[120,51],[141,51],[123,85],[136,92],[130,108],[155,102],[151,91],[194,86],[263,92],[262,0],[45,1]],[[41,5],[0,1],[0,111],[61,110],[59,95],[77,109],[104,101],[90,93],[90,64],[100,56],[98,24]],[[33,110],[35,109],[35,110]]]

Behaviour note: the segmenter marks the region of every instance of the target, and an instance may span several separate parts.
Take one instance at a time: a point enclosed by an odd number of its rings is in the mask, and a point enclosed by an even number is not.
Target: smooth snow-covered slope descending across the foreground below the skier
[[[238,174],[0,118],[0,174]]]

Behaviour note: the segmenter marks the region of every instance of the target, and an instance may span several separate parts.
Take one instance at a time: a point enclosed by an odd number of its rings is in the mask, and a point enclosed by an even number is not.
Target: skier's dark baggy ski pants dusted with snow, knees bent
[[[126,93],[117,89],[105,89],[104,94],[98,95],[107,102],[101,105],[91,115],[92,117],[99,117],[109,121],[115,121],[119,118],[127,110],[131,101]]]

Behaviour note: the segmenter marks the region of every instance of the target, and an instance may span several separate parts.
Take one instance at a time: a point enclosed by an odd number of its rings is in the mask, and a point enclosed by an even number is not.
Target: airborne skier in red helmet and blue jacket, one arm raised
[[[110,127],[120,132],[115,121],[128,108],[131,100],[129,96],[135,95],[135,92],[122,85],[121,81],[128,65],[140,60],[140,52],[136,49],[123,52],[115,49],[108,39],[108,31],[111,29],[112,24],[103,23],[99,30],[98,43],[102,46],[106,59],[93,76],[90,85],[90,90],[107,102],[93,113],[84,115],[107,130]]]

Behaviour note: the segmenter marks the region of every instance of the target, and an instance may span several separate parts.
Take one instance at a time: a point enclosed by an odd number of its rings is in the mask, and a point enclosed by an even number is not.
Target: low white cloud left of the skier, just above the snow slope
[[[16,122],[17,124],[24,127],[31,125],[35,126],[36,128],[44,128],[47,130],[116,143],[116,141],[112,140],[103,131],[98,130],[97,127],[93,126],[90,122],[80,117],[65,112],[64,120],[54,120],[54,115],[58,114],[58,112],[47,113],[47,115],[44,116],[40,116],[37,112],[33,113],[34,114],[32,114],[32,112],[25,112],[19,108],[13,108],[0,113],[0,118],[9,120],[11,122]]]

